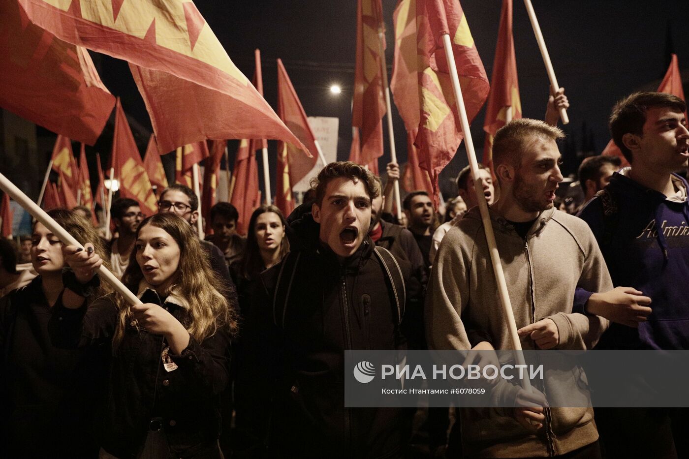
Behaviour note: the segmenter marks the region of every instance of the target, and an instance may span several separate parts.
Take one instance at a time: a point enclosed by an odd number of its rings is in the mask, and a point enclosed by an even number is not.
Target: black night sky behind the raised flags
[[[356,45],[356,0],[196,0],[198,10],[223,43],[234,63],[249,79],[254,72],[254,49],[263,61],[266,100],[276,108],[276,59],[281,58],[309,116],[340,119],[338,159],[347,159],[351,145],[351,88]],[[389,75],[393,61],[394,0],[383,0],[387,26]],[[500,0],[461,2],[486,74],[491,78],[500,20]],[[580,158],[572,152],[590,148],[600,152],[609,140],[607,117],[613,103],[635,90],[655,90],[669,63],[668,52],[689,69],[686,23],[689,1],[533,0],[559,84],[570,99],[570,125],[564,172],[575,170]],[[524,3],[514,0],[514,39],[524,116],[542,119],[548,79]],[[123,61],[94,57],[103,82],[119,95],[125,111],[150,130],[150,120]],[[684,81],[689,71],[683,72]],[[342,94],[329,92],[332,83]],[[406,161],[406,133],[393,105],[398,159]],[[472,123],[477,150],[482,149],[484,110]],[[387,134],[385,154],[389,160]],[[584,141],[582,141],[584,139]],[[230,152],[235,143],[230,143]],[[145,148],[145,141],[141,150]],[[276,143],[269,142],[271,176]],[[108,149],[109,150],[109,149]],[[565,151],[566,150],[566,151]],[[568,153],[569,152],[569,153]],[[449,179],[466,165],[464,147],[442,175],[442,190],[452,192]],[[261,176],[263,179],[263,176]],[[272,181],[274,182],[274,178]],[[274,189],[274,188],[273,188]]]

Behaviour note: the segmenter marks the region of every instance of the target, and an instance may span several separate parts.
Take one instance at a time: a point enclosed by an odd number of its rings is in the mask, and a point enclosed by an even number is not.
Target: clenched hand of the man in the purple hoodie
[[[638,328],[651,313],[650,298],[633,287],[615,287],[609,292],[595,293],[586,302],[586,312]]]

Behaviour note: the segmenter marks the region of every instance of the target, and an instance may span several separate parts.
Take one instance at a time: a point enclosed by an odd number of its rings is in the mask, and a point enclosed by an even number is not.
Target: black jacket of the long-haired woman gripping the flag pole
[[[61,347],[84,347],[112,341],[119,320],[114,294],[90,307],[67,309],[61,300],[50,320],[50,334]],[[165,307],[187,323],[183,300],[162,302],[152,289],[141,292],[143,303]],[[110,371],[107,404],[99,416],[101,447],[119,458],[133,458],[159,418],[172,457],[217,457],[220,432],[219,395],[229,378],[230,338],[224,329],[198,343],[193,337],[179,356],[169,354],[177,369],[167,371],[161,352],[163,336],[131,324],[116,350]],[[228,420],[229,422],[229,420]]]

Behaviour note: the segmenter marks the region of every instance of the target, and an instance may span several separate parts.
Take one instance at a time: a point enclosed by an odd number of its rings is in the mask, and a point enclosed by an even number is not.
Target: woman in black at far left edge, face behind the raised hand
[[[80,243],[93,241],[95,253],[105,257],[90,221],[66,209],[48,214]],[[30,254],[38,276],[0,300],[0,457],[96,457],[92,406],[110,352],[52,345],[48,323],[64,289],[62,243],[34,223]],[[92,293],[108,292],[110,286],[102,285]],[[79,442],[70,440],[75,429]]]

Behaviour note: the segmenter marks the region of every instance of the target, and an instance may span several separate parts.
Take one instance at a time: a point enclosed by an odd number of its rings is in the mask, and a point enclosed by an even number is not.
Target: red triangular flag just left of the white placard
[[[287,189],[291,193],[291,186],[303,179],[316,165],[318,148],[316,147],[316,136],[313,135],[304,108],[294,86],[289,81],[285,65],[282,65],[280,59],[278,59],[278,115],[294,132],[297,139],[313,152],[313,155],[308,153],[305,155],[304,150],[299,150],[294,145],[278,142],[278,194],[284,193]],[[280,164],[281,161],[282,165]],[[289,185],[284,181],[287,178],[285,170],[289,176]]]

